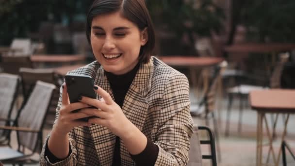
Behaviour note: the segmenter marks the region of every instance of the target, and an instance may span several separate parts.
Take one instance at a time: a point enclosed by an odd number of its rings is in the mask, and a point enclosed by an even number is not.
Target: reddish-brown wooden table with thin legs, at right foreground
[[[281,143],[283,143],[285,135],[286,135],[286,128],[288,125],[288,119],[290,114],[295,113],[295,90],[282,90],[282,89],[271,89],[271,90],[259,90],[259,91],[252,91],[249,95],[250,105],[252,109],[257,111],[257,156],[256,156],[256,165],[262,166],[262,139],[263,139],[263,119],[265,122],[265,128],[267,132],[267,136],[269,139],[269,150],[267,155],[267,160],[269,160],[270,152],[273,156],[273,161],[276,166],[279,166],[279,158],[281,149],[279,149],[279,154],[276,157],[274,149],[272,147],[272,141],[274,135],[270,133],[268,128],[267,119],[265,114],[277,114],[276,121],[278,119],[278,113],[280,114],[287,114],[287,118],[284,123],[284,130],[281,137]],[[275,130],[275,125],[274,125]],[[265,146],[265,145],[264,145]]]

